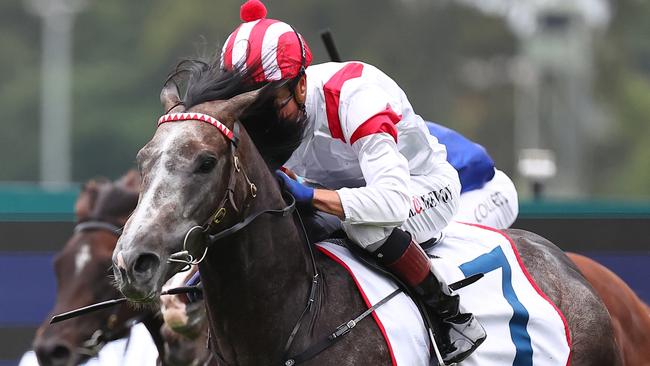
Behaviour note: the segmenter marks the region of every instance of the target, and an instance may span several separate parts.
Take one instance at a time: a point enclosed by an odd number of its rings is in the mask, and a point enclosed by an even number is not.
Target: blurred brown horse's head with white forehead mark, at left
[[[111,255],[116,230],[137,203],[139,181],[138,173],[131,171],[117,183],[93,180],[84,185],[75,205],[75,233],[54,259],[58,288],[53,314],[119,297],[109,277]],[[75,365],[95,354],[103,342],[124,335],[124,323],[133,312],[125,306],[115,309],[53,325],[46,320],[34,339],[39,363]]]

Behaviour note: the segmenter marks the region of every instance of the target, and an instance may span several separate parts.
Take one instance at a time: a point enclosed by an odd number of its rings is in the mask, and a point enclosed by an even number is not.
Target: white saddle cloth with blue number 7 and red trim
[[[318,243],[317,248],[350,273],[368,307],[397,288],[359,262],[348,249],[328,242]],[[448,284],[485,273],[479,281],[457,291],[461,307],[473,313],[487,332],[485,342],[462,365],[569,364],[571,339],[566,320],[535,284],[504,233],[454,222],[428,253],[436,256],[432,264]],[[435,355],[429,349],[423,320],[408,296],[399,294],[372,315],[384,335],[393,365],[429,365],[430,357]]]

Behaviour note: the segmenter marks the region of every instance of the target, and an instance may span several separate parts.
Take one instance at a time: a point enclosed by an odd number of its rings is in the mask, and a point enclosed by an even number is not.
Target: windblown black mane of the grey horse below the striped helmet
[[[178,63],[168,81],[185,87],[183,103],[186,109],[213,100],[227,100],[236,95],[265,86],[257,100],[244,111],[240,122],[271,169],[284,164],[302,141],[305,119],[291,121],[276,113],[274,102],[278,88],[286,82],[260,84],[254,82],[252,67],[235,67],[224,71],[219,57],[211,61],[203,58],[185,59]]]

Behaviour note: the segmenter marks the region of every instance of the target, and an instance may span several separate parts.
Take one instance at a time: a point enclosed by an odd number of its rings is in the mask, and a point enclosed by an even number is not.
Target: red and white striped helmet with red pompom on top
[[[223,69],[248,69],[255,82],[261,83],[291,79],[309,66],[307,42],[289,24],[267,19],[266,7],[259,0],[244,3],[240,17],[244,23],[230,34],[221,52]]]

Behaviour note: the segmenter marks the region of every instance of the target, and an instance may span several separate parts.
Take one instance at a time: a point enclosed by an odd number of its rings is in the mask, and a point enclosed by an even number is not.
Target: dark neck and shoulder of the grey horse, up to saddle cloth
[[[248,173],[259,192],[250,213],[285,206],[267,169]],[[210,345],[225,364],[266,365],[286,356],[282,354],[285,344],[305,310],[314,274],[309,250],[302,240],[293,217],[262,215],[240,233],[215,243],[199,265]],[[306,349],[350,316],[366,310],[345,270],[322,256],[316,256],[316,260],[318,295],[311,312],[302,319],[291,354]],[[322,364],[338,365],[353,353],[364,355],[363,361],[367,362],[360,362],[363,364],[390,364],[387,350],[377,347],[383,339],[374,324],[366,322],[356,327],[356,336],[359,342],[339,343],[336,353]]]

